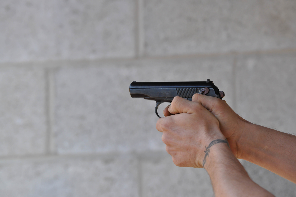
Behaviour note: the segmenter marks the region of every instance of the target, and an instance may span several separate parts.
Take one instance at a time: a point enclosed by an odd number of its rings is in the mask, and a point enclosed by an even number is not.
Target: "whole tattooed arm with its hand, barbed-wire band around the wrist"
[[[204,167],[216,197],[273,196],[253,182],[229,148],[218,119],[202,104],[175,97],[157,121],[176,166]],[[231,147],[231,146],[230,146]]]

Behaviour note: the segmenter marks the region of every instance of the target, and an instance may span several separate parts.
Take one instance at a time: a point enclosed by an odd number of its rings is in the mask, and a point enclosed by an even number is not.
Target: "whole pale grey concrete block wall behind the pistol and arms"
[[[1,196],[213,196],[204,169],[174,166],[155,103],[128,86],[209,78],[245,119],[296,134],[295,19],[293,0],[1,0]]]

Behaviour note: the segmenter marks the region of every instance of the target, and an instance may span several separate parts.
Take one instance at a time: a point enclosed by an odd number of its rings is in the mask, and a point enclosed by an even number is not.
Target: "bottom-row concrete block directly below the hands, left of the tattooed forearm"
[[[158,160],[143,160],[142,196],[214,196],[210,177],[205,169],[181,168],[170,155]]]

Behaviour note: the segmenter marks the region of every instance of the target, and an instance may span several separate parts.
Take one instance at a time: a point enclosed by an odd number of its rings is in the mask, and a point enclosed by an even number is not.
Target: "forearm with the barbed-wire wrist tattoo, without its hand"
[[[216,197],[273,196],[253,182],[226,144],[215,144],[204,165]]]

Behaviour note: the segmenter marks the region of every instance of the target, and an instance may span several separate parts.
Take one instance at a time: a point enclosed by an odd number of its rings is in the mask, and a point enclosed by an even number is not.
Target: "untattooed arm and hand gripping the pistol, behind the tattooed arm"
[[[219,120],[220,130],[237,158],[296,183],[296,136],[252,124],[221,99],[195,94],[192,101],[202,104]]]

